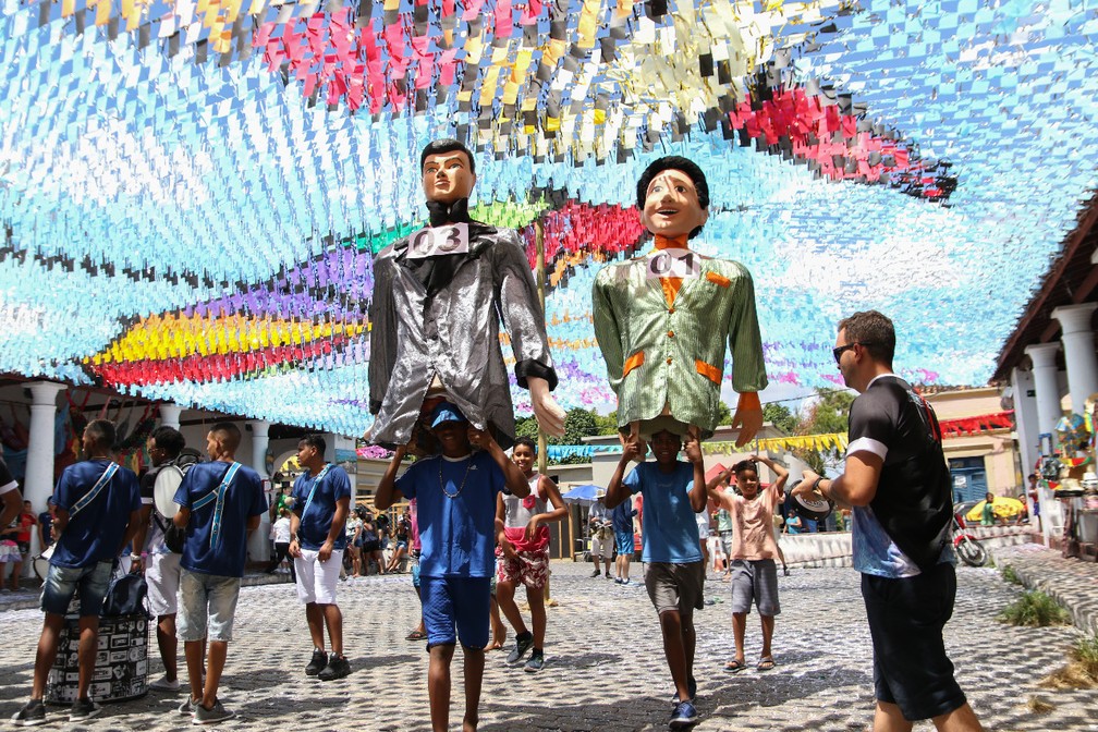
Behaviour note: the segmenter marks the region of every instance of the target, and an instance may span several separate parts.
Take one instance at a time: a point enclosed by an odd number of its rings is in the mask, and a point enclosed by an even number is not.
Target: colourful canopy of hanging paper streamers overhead
[[[0,371],[340,433],[435,137],[544,232],[568,407],[614,406],[590,288],[658,155],[803,393],[870,307],[911,380],[986,380],[1095,185],[1098,0],[0,3]]]

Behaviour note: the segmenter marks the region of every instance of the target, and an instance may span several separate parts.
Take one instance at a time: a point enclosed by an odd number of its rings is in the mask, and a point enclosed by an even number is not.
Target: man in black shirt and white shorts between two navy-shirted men
[[[148,583],[148,607],[156,616],[156,644],[164,662],[164,676],[148,685],[156,691],[178,691],[179,678],[176,638],[177,595],[179,593],[179,558],[164,543],[164,531],[171,517],[165,517],[156,509],[154,502],[156,482],[171,466],[179,469],[182,476],[187,469],[198,462],[198,453],[184,450],[187,442],[178,429],[158,427],[148,438],[146,450],[153,461],[153,470],[141,478],[141,527],[134,537],[134,547],[142,548],[141,555],[131,554],[134,566],[145,571]]]

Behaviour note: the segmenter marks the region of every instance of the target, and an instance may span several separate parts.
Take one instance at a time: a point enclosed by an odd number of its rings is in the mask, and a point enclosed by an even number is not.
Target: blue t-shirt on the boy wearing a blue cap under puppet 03
[[[419,460],[396,478],[396,489],[416,499],[422,576],[495,573],[495,497],[504,483],[503,471],[485,451]]]

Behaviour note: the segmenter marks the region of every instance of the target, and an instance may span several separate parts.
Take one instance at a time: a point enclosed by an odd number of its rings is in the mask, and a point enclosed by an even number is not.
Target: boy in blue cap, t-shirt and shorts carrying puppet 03
[[[379,510],[385,510],[401,496],[416,498],[422,544],[419,597],[430,654],[430,725],[435,732],[448,729],[450,662],[460,640],[466,677],[461,729],[472,732],[479,720],[489,637],[496,496],[506,491],[526,497],[530,486],[491,430],[472,427],[456,405],[440,402],[428,424],[442,454],[417,460],[397,478],[407,446],[397,447],[373,503]]]

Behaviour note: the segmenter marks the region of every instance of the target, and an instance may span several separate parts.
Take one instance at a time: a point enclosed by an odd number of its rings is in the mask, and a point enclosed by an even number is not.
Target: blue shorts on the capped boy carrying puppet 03
[[[490,585],[490,577],[419,577],[428,651],[459,640],[470,649],[488,645]]]

